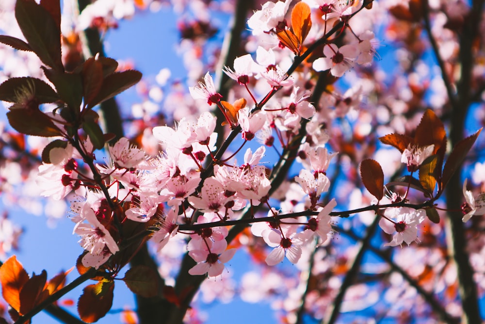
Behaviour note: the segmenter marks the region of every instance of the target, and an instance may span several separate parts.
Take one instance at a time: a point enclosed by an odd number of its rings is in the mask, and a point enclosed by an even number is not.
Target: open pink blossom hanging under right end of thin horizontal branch
[[[423,209],[409,207],[390,208],[385,212],[385,217],[379,221],[379,226],[387,234],[394,234],[392,241],[384,246],[407,245],[418,238],[418,224],[424,221],[426,213]]]

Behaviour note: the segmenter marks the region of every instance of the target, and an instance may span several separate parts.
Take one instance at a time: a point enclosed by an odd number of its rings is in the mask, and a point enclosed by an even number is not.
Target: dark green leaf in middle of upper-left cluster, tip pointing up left
[[[49,81],[56,87],[59,97],[75,113],[75,116],[78,116],[82,102],[81,74],[57,72],[48,68],[43,69]]]

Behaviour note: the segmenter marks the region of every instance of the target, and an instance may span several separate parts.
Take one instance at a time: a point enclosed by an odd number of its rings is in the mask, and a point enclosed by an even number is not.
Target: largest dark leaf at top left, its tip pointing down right
[[[61,30],[52,15],[34,0],[17,0],[15,17],[27,43],[40,60],[64,71],[61,60]]]

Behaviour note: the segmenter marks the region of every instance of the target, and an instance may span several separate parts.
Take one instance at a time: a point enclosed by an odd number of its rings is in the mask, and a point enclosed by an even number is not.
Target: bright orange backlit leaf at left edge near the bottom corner
[[[9,257],[0,267],[3,299],[17,311],[20,309],[20,290],[28,280],[29,275],[16,256]]]

